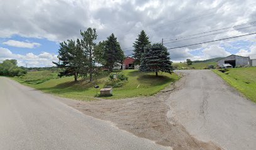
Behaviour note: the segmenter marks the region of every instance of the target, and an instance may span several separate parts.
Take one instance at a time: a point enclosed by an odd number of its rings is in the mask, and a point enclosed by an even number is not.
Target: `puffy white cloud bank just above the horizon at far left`
[[[9,49],[0,47],[0,61],[5,59],[16,59],[18,66],[28,67],[48,67],[54,66],[53,61],[58,62],[58,58],[55,54],[43,52],[41,54],[27,53],[25,55],[13,54]]]

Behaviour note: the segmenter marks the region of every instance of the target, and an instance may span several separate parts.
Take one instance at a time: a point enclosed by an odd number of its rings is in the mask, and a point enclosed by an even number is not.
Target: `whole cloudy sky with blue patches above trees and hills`
[[[96,42],[114,32],[125,55],[132,54],[132,43],[142,29],[151,42],[163,38],[168,48],[250,34],[256,32],[256,2],[8,0],[0,2],[0,21],[0,61],[17,59],[19,66],[53,66],[58,43],[80,38],[80,29],[87,27],[97,29]],[[177,62],[248,56],[256,54],[255,37],[169,49],[169,53],[171,61]]]

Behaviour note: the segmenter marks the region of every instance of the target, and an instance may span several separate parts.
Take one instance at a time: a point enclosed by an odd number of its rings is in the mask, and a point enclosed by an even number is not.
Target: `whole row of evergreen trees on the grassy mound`
[[[123,63],[124,51],[114,33],[98,44],[95,43],[96,29],[89,27],[87,31],[80,31],[80,34],[80,39],[68,39],[60,43],[59,62],[53,62],[57,68],[62,68],[60,77],[74,76],[77,81],[79,76],[89,76],[92,81],[93,74],[100,71],[96,63],[109,69],[110,72],[113,71],[115,64]],[[141,31],[133,47],[133,58],[136,59],[135,64],[140,65],[140,71],[155,72],[156,76],[159,71],[167,73],[173,71],[167,48],[159,43],[151,45],[146,32]]]

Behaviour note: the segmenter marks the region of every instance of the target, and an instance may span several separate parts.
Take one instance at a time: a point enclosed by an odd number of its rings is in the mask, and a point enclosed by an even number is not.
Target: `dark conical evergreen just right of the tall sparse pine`
[[[109,71],[111,72],[113,71],[114,65],[116,63],[123,63],[124,51],[122,51],[119,42],[117,42],[117,37],[115,37],[114,33],[107,37],[103,54],[103,58],[105,59],[104,66],[109,68]]]

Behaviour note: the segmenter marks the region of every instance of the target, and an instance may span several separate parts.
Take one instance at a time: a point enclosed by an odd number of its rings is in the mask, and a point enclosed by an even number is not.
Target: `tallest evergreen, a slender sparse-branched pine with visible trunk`
[[[93,56],[96,43],[93,42],[95,39],[97,39],[97,33],[95,28],[89,27],[87,31],[80,31],[83,39],[82,47],[85,55],[88,57],[87,66],[88,66],[88,72],[90,74],[90,82],[92,81],[92,74],[93,70],[95,70],[95,56]]]

